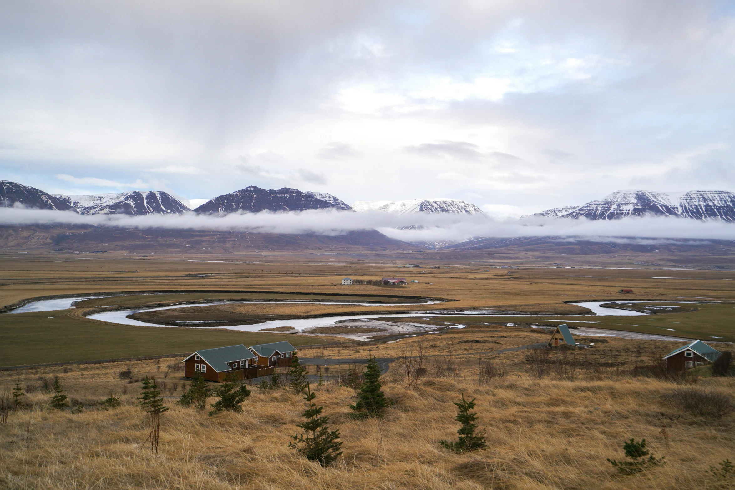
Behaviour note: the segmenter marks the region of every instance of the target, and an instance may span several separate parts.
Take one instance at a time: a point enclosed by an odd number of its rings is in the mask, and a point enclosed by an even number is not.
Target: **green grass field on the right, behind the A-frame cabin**
[[[641,303],[651,305],[672,304],[665,302]],[[609,328],[645,334],[659,334],[686,339],[700,339],[703,341],[735,342],[735,304],[734,303],[702,303],[686,306],[695,306],[697,311],[682,313],[661,313],[645,316],[594,316],[594,317],[434,317],[432,320],[442,320],[453,323],[481,322],[481,323],[565,323],[578,327]]]

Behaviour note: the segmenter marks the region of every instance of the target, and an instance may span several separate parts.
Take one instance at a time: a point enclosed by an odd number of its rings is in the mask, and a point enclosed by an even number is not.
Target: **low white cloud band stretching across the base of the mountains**
[[[176,228],[254,233],[339,235],[377,229],[406,242],[464,241],[476,237],[567,237],[610,241],[637,239],[735,239],[735,225],[675,217],[631,217],[614,221],[534,218],[493,220],[480,215],[393,215],[386,212],[259,212],[207,215],[77,215],[72,212],[4,208],[1,226],[85,224],[121,228]]]

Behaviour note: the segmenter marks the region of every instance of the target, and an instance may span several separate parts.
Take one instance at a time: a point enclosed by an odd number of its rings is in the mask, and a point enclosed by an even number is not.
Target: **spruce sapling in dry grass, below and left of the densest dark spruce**
[[[288,447],[292,447],[306,459],[318,461],[320,465],[326,466],[342,455],[340,447],[342,442],[339,430],[329,430],[329,417],[321,415],[324,407],[318,407],[314,403],[315,393],[309,383],[306,383],[306,396],[304,400],[309,404],[303,415],[306,421],[296,425],[304,429],[304,434],[296,434],[291,436],[294,442],[289,442]]]

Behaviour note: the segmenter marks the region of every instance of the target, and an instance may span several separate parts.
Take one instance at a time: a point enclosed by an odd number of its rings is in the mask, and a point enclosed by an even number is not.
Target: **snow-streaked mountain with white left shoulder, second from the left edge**
[[[191,211],[168,192],[137,190],[98,195],[56,195],[81,215],[181,215]]]

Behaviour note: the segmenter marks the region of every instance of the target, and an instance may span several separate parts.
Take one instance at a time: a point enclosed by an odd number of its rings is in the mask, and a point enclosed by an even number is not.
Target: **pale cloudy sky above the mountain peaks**
[[[732,1],[4,1],[0,179],[497,217],[735,191],[733,80]]]

